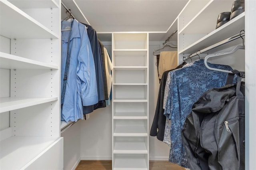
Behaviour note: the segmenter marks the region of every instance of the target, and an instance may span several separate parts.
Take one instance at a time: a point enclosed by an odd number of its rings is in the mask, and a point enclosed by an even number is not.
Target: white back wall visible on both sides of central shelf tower
[[[102,42],[111,55],[111,43]],[[149,129],[151,128],[156,101],[158,97],[159,80],[156,67],[156,57],[153,49],[162,42],[150,42],[149,45]],[[149,132],[148,132],[149,133]],[[150,160],[168,160],[170,147],[150,136]],[[81,160],[111,160],[112,159],[112,106],[101,108],[90,113],[90,118],[81,121]]]

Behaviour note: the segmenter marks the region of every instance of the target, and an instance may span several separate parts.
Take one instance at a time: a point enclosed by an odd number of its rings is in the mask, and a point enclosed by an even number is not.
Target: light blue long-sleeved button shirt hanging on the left
[[[63,20],[61,29],[71,27],[71,22]],[[66,66],[68,38],[70,31],[61,32],[61,91]],[[98,92],[92,48],[86,27],[73,20],[70,34],[70,63],[66,84],[65,98],[62,106],[62,121],[83,119],[82,106],[98,103]]]

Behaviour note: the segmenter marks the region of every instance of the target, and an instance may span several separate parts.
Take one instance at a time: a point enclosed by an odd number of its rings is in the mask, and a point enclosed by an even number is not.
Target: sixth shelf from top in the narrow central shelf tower
[[[148,133],[142,126],[116,126],[114,136],[148,136]]]

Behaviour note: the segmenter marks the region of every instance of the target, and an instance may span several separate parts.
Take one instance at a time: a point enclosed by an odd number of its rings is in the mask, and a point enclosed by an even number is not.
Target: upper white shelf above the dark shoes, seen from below
[[[179,34],[208,34],[216,28],[218,15],[230,11],[233,0],[211,0]]]

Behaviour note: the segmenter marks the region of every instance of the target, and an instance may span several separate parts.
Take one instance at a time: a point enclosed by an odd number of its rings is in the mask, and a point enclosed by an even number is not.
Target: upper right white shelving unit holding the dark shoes
[[[195,3],[200,4],[200,8],[193,8]],[[186,4],[178,16],[179,63],[182,63],[183,56],[188,56],[244,30],[245,13],[215,29],[218,15],[231,11],[232,3],[233,0],[190,0]],[[221,45],[207,53],[214,53],[239,43],[242,43],[242,40]]]

